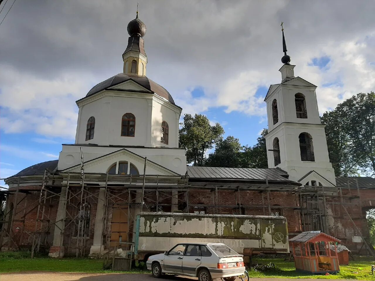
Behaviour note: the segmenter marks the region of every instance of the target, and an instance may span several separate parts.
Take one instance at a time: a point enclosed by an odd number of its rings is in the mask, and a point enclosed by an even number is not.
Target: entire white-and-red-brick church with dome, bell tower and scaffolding
[[[366,253],[375,179],[335,177],[317,86],[294,75],[284,30],[281,82],[264,100],[268,169],[187,166],[178,147],[182,109],[146,76],[138,11],[127,31],[122,72],[76,102],[75,143],[63,144],[58,160],[5,180],[0,250],[102,256],[118,241],[131,242],[136,215],[148,211],[282,215],[290,237],[322,230]]]

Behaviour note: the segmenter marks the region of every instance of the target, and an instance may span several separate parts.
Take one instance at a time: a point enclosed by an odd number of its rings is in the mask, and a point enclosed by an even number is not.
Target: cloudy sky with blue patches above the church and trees
[[[0,21],[13,0],[3,1]],[[74,143],[75,101],[122,72],[137,1],[16,0],[0,24],[0,178]],[[375,89],[375,1],[139,1],[147,77],[183,114],[204,114],[254,145],[281,82],[282,34],[320,114]]]

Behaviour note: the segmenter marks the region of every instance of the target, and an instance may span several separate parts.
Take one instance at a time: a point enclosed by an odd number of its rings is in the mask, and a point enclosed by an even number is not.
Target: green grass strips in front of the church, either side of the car
[[[311,279],[354,279],[354,280],[375,280],[375,275],[371,275],[371,264],[374,261],[369,258],[357,257],[355,261],[350,261],[350,265],[340,266],[338,274],[312,275],[297,272],[294,262],[285,262],[284,259],[253,259],[253,263],[267,264],[275,263],[280,269],[274,272],[249,272],[250,277],[273,277],[273,278],[311,278]],[[0,252],[0,272],[23,272],[23,271],[54,271],[54,272],[86,272],[86,273],[113,273],[102,269],[102,260],[93,259],[51,259],[48,257],[36,257],[30,259],[28,252]],[[147,273],[138,269],[123,273]]]

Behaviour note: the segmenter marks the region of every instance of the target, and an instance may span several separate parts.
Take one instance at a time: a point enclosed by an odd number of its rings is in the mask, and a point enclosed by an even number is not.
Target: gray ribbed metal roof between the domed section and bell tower
[[[286,178],[288,173],[281,169],[187,166],[187,174],[190,178],[265,180],[267,176],[270,181],[290,181]]]

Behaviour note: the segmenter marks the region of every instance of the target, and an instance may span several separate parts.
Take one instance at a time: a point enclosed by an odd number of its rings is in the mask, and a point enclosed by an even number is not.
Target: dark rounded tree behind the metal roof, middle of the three
[[[242,146],[239,139],[228,136],[216,143],[215,151],[208,155],[205,166],[242,167]]]

